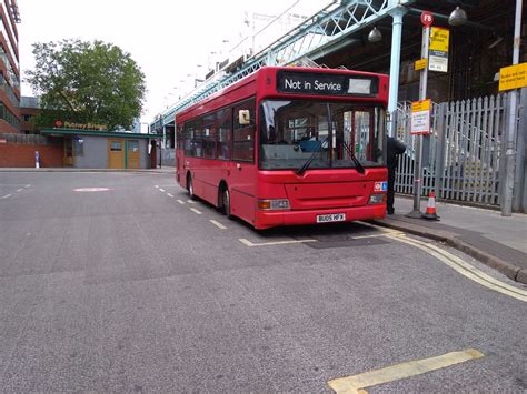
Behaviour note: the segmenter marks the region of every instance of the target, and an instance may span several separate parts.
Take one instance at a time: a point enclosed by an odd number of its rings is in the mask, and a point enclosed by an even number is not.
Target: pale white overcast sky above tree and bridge
[[[312,16],[329,0],[18,0],[22,95],[34,67],[34,42],[102,40],[129,52],[146,75],[141,122],[173,104],[216,61],[248,51],[252,31],[286,10]],[[245,23],[247,21],[248,23]],[[257,48],[270,43],[298,20],[282,17],[257,34]],[[245,41],[237,46],[241,40]],[[236,47],[236,48],[235,48]]]

